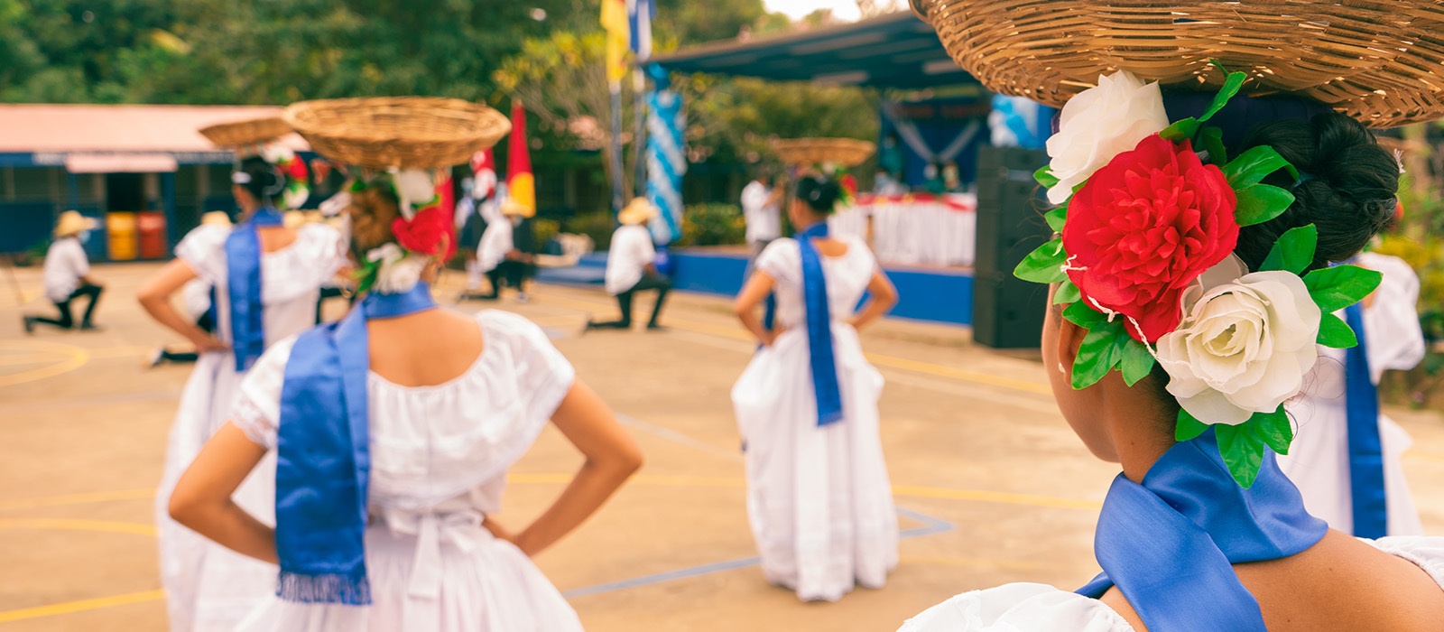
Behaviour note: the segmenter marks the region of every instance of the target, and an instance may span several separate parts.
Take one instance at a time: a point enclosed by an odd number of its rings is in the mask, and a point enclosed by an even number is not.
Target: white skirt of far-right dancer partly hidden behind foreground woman
[[[1341,403],[1313,403],[1291,410],[1300,416],[1288,456],[1278,465],[1304,495],[1304,508],[1346,534],[1353,534],[1353,492],[1349,482],[1349,418]],[[1383,488],[1389,506],[1388,535],[1424,535],[1419,511],[1404,478],[1404,450],[1414,440],[1398,423],[1379,414],[1383,447]]]

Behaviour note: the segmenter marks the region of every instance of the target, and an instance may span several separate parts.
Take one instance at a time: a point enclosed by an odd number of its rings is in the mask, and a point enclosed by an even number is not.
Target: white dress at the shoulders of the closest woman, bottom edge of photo
[[[1444,538],[1363,540],[1412,561],[1444,589]],[[1199,628],[1207,629],[1207,628]],[[1135,632],[1096,599],[1047,584],[1012,583],[962,593],[908,619],[898,632]]]

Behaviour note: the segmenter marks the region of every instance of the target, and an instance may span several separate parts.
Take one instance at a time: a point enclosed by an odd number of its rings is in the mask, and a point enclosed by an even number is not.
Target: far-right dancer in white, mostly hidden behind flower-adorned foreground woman
[[[1404,450],[1412,440],[1379,410],[1378,388],[1385,369],[1408,371],[1424,359],[1419,277],[1385,254],[1360,253],[1353,263],[1383,280],[1344,309],[1359,346],[1320,349],[1324,359],[1304,392],[1288,401],[1298,439],[1278,466],[1304,495],[1308,512],[1328,527],[1362,538],[1424,535],[1404,479]]]

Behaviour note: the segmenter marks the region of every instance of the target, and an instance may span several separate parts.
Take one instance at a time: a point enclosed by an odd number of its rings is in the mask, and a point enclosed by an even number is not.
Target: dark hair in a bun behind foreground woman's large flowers
[[[1324,113],[1265,123],[1245,134],[1233,154],[1265,144],[1294,164],[1300,179],[1278,172],[1265,180],[1289,189],[1295,201],[1282,215],[1239,231],[1235,253],[1249,270],[1258,270],[1291,228],[1318,228],[1313,270],[1349,260],[1393,222],[1399,164],[1359,121]]]

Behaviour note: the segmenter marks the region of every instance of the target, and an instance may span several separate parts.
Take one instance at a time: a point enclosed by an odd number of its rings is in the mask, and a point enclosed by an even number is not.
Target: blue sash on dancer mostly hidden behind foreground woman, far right
[[[1344,411],[1349,418],[1349,492],[1353,498],[1353,534],[1360,538],[1389,535],[1389,499],[1383,485],[1383,442],[1379,439],[1379,388],[1369,371],[1363,307],[1344,307],[1344,322],[1359,343],[1344,351]]]

